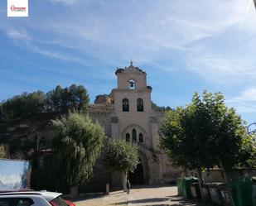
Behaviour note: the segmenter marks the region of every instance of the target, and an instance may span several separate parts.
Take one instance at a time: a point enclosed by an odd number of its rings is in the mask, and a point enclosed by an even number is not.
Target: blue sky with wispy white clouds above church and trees
[[[251,123],[255,56],[253,0],[29,0],[29,17],[7,17],[0,0],[0,101],[83,84],[93,102],[132,59],[157,105],[221,92]]]

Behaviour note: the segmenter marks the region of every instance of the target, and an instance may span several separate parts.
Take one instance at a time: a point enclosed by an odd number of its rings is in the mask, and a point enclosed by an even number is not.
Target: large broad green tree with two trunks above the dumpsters
[[[244,121],[227,108],[221,93],[195,93],[186,108],[169,111],[161,128],[161,146],[175,165],[196,170],[219,165],[229,181],[235,165],[249,163],[252,137]]]

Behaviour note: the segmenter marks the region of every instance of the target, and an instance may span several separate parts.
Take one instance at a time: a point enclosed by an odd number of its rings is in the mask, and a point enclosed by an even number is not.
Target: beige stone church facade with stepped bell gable
[[[89,114],[104,128],[109,138],[121,138],[138,143],[140,164],[129,174],[132,184],[167,184],[180,175],[159,148],[159,127],[164,112],[152,110],[152,88],[147,86],[147,74],[133,66],[116,70],[118,86],[109,95],[99,95],[89,106]],[[94,175],[95,178],[96,175]],[[112,184],[121,181],[112,175]]]

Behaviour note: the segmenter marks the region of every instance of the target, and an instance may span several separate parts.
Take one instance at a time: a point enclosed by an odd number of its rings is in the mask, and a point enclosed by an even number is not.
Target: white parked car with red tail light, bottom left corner
[[[75,206],[60,196],[45,190],[4,191],[0,193],[0,206]]]

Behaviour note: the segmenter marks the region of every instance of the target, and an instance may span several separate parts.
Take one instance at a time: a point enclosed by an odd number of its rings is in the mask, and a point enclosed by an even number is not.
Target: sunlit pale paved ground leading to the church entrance
[[[130,194],[123,191],[113,192],[109,195],[91,195],[87,199],[75,201],[76,206],[205,206],[193,201],[186,201],[177,197],[176,187],[155,186],[130,190]]]

